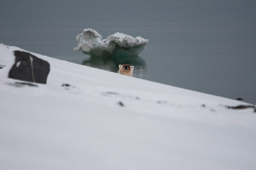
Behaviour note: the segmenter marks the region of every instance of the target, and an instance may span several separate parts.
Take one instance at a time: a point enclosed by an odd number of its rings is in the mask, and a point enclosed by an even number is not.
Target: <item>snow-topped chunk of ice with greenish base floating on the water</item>
[[[142,37],[132,37],[123,33],[115,33],[103,39],[94,29],[84,29],[76,37],[78,46],[74,52],[82,50],[90,56],[137,56],[146,50],[148,40]]]

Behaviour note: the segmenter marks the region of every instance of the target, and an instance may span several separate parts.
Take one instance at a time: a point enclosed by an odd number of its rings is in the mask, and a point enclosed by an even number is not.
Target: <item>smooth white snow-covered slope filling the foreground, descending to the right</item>
[[[256,168],[256,114],[224,107],[247,103],[33,52],[47,84],[20,87],[14,50],[0,45],[3,170]]]

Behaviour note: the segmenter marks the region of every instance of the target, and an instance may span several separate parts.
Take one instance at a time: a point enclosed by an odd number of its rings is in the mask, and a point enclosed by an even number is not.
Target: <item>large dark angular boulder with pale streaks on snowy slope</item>
[[[14,51],[15,63],[9,71],[9,78],[46,84],[50,64],[28,52]]]

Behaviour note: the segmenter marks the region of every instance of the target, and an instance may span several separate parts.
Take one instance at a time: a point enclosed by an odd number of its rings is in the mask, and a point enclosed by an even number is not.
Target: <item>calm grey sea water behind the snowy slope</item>
[[[125,62],[138,78],[256,104],[255,9],[247,0],[3,1],[0,42],[113,72]],[[120,60],[74,53],[85,28],[141,36],[147,50]]]

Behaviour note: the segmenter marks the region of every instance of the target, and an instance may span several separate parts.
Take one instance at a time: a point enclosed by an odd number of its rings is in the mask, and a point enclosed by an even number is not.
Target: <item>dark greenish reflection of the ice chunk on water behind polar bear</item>
[[[148,77],[148,66],[146,60],[140,56],[120,56],[112,55],[110,57],[97,57],[90,56],[90,58],[84,59],[82,65],[103,69],[106,71],[112,71],[117,73],[119,70],[119,64],[133,65],[133,77],[147,79]]]

